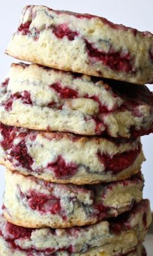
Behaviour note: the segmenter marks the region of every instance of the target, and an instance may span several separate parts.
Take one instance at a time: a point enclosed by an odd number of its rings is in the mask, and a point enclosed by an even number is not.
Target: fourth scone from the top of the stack
[[[142,199],[141,173],[106,184],[56,184],[6,170],[3,214],[21,227],[63,228],[117,217]]]

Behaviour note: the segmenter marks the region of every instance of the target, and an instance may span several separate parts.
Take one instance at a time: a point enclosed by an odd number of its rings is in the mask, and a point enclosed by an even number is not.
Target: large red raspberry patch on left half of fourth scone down
[[[32,210],[38,210],[42,213],[51,212],[51,214],[58,214],[64,220],[66,219],[64,211],[60,205],[60,199],[54,195],[36,192],[30,190],[27,195],[20,192],[21,197],[27,199],[28,205]]]

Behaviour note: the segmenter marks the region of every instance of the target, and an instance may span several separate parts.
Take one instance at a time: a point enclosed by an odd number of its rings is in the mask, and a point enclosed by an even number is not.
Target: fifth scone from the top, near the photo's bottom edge
[[[86,227],[71,229],[26,229],[0,220],[0,237],[8,247],[21,251],[44,252],[56,255],[67,253],[89,255],[95,249],[97,253],[113,251],[116,255],[125,254],[143,242],[151,223],[148,200],[143,200],[126,214],[110,221],[100,221]],[[63,254],[60,254],[63,255]]]

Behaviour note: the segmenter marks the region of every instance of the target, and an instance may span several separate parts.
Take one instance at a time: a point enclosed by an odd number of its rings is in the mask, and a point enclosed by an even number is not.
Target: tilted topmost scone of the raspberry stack
[[[29,5],[6,53],[90,76],[153,81],[153,35],[89,14]]]

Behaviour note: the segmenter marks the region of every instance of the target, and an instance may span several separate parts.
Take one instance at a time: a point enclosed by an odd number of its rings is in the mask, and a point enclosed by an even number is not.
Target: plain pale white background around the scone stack
[[[16,31],[21,9],[25,5],[47,5],[59,10],[72,10],[75,12],[87,12],[104,16],[115,23],[123,23],[130,27],[135,27],[141,31],[151,31],[153,33],[153,1],[152,0],[0,0],[0,79],[5,78],[10,63],[16,61],[4,55],[6,45],[10,40],[10,35]],[[150,85],[153,89],[153,85]],[[147,162],[143,164],[142,170],[145,175],[144,197],[151,200],[153,210],[153,135],[142,138],[143,149]],[[5,188],[5,168],[0,167],[0,204],[2,205],[3,191]],[[1,207],[1,206],[0,206]]]

